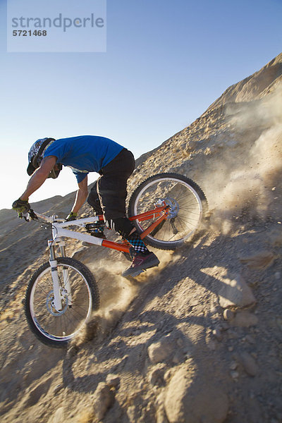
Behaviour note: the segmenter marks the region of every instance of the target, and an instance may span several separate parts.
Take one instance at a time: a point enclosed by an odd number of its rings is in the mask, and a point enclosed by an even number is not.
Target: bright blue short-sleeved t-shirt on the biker
[[[87,173],[99,172],[122,149],[121,145],[109,138],[80,135],[52,142],[43,157],[55,156],[56,163],[71,167],[80,183]]]

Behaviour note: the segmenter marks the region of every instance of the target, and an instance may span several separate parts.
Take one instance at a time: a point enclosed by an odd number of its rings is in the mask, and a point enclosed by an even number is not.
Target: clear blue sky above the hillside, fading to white
[[[0,0],[0,209],[25,190],[37,138],[103,135],[137,158],[279,54],[281,22],[281,0],[108,0],[105,53],[7,53]],[[30,201],[75,189],[64,169]]]

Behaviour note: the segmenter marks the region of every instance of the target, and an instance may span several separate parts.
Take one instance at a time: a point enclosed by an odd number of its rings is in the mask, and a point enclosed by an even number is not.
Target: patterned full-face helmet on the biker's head
[[[27,166],[27,175],[32,175],[32,173],[35,171],[35,169],[39,168],[42,159],[43,154],[47,147],[51,145],[52,142],[54,142],[54,138],[41,138],[37,141],[35,141],[30,151],[28,152],[28,166]],[[56,179],[59,176],[59,173],[61,172],[61,164],[57,164],[58,170],[55,171],[54,169],[51,170],[49,173],[48,178]]]

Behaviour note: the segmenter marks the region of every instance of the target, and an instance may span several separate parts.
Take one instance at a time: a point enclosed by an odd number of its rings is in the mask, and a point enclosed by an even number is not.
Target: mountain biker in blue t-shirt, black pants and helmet
[[[133,223],[125,215],[127,180],[135,167],[133,154],[123,146],[105,137],[81,135],[78,137],[42,138],[28,153],[27,174],[31,176],[27,188],[13,209],[19,214],[30,209],[28,198],[47,178],[58,178],[62,166],[71,167],[78,181],[75,203],[66,220],[76,219],[78,211],[87,199],[94,214],[104,214],[106,226],[114,229],[133,247],[133,262],[123,276],[157,266],[159,259],[149,252]],[[87,174],[97,172],[100,177],[88,195]],[[103,227],[98,223],[98,236],[104,238]]]

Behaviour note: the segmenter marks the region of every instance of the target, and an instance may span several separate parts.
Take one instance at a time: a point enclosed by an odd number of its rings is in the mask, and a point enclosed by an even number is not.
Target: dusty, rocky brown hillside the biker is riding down
[[[190,243],[155,251],[159,269],[130,284],[118,252],[68,247],[102,302],[99,330],[68,352],[40,345],[23,317],[47,231],[0,212],[13,228],[13,243],[1,233],[2,422],[282,422],[281,74],[282,54],[137,160],[129,191],[176,171],[209,202]],[[73,195],[50,201],[35,209],[66,214]]]

